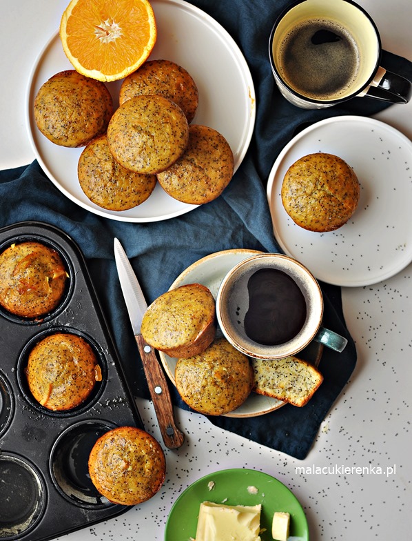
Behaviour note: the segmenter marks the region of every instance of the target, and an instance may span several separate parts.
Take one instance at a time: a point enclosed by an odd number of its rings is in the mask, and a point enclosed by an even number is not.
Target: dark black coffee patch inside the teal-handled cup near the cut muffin
[[[275,346],[299,333],[306,319],[306,302],[293,278],[276,268],[260,268],[249,278],[247,289],[244,324],[251,340]]]

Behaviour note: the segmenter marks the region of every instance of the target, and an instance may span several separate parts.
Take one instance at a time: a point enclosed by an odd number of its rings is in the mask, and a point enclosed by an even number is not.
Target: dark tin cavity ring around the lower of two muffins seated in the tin
[[[64,333],[64,334],[74,334],[77,336],[80,336],[92,347],[92,350],[94,351],[94,354],[96,355],[97,362],[99,364],[99,367],[101,369],[101,381],[96,381],[94,384],[94,388],[90,395],[86,398],[84,402],[79,404],[79,406],[76,406],[72,409],[68,410],[62,410],[62,411],[53,411],[48,408],[45,408],[45,406],[42,406],[37,400],[33,397],[32,393],[30,392],[30,387],[28,384],[28,379],[25,373],[25,368],[28,364],[28,357],[30,355],[30,351],[43,340],[45,337],[48,337],[50,335],[56,334],[56,333]],[[79,413],[83,413],[84,411],[87,411],[90,409],[90,407],[95,404],[99,398],[101,397],[105,382],[107,381],[107,361],[105,360],[105,356],[103,355],[103,351],[101,350],[101,347],[99,344],[96,344],[94,340],[92,340],[91,337],[85,335],[85,333],[82,333],[81,331],[78,331],[75,328],[70,327],[53,327],[48,328],[45,331],[38,333],[37,335],[34,335],[31,340],[27,344],[25,344],[23,350],[21,351],[21,355],[19,357],[19,361],[17,363],[17,380],[19,382],[19,386],[21,388],[21,393],[25,397],[25,400],[27,400],[33,409],[37,409],[39,413],[43,415],[52,415],[54,417],[71,417],[74,415],[79,415]]]

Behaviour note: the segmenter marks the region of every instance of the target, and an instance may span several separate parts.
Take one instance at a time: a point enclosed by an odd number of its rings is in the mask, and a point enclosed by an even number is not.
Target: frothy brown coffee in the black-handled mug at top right
[[[296,92],[312,99],[344,97],[359,69],[356,42],[338,23],[310,19],[300,23],[280,44],[278,69]]]

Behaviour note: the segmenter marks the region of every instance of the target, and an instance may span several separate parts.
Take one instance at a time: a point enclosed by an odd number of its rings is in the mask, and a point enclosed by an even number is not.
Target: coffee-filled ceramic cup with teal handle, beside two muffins
[[[285,255],[262,253],[227,273],[216,297],[226,339],[258,359],[281,359],[317,340],[341,352],[347,339],[322,326],[323,297],[316,278]]]

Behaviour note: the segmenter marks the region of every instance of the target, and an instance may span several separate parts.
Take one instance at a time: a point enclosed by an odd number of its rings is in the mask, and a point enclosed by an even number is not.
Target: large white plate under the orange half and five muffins
[[[199,106],[192,124],[218,130],[234,153],[235,170],[245,156],[256,115],[254,83],[235,41],[212,17],[182,0],[153,0],[158,37],[150,59],[175,61],[194,78]],[[88,199],[77,179],[82,148],[54,145],[37,129],[34,97],[52,75],[72,69],[56,33],[41,51],[30,76],[27,97],[28,131],[44,172],[67,197],[92,213],[123,222],[157,222],[196,208],[169,197],[160,185],[143,204],[130,210],[105,210]],[[115,106],[121,81],[108,83]]]

